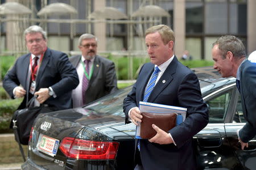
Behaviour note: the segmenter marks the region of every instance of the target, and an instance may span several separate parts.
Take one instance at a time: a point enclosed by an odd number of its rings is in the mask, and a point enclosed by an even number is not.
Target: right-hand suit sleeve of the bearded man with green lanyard
[[[106,70],[105,91],[107,94],[117,91],[117,75],[115,74],[115,64],[111,62]]]

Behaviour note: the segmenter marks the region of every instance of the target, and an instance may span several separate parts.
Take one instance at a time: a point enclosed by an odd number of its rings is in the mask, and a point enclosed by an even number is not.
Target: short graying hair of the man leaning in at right
[[[242,41],[233,35],[224,35],[221,36],[212,44],[218,45],[218,49],[221,51],[222,59],[226,58],[226,53],[228,51],[232,52],[234,57],[240,59],[245,57],[245,45],[243,45]]]

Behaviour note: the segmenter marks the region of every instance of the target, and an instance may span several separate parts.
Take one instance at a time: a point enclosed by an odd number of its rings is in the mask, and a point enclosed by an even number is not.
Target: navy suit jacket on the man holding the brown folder
[[[143,100],[144,89],[153,71],[154,64],[144,64],[137,82],[124,99],[126,123],[129,123],[128,111],[138,107],[139,101]],[[175,56],[155,85],[148,102],[186,107],[188,110],[185,121],[169,131],[176,146],[141,140],[140,154],[144,169],[196,169],[192,137],[208,123],[208,107],[201,97],[196,74],[182,65]]]

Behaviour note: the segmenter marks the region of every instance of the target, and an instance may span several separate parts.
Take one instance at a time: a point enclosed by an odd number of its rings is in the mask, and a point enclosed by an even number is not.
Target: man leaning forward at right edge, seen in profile
[[[247,123],[238,131],[242,150],[256,135],[256,63],[246,59],[245,46],[236,36],[221,36],[213,43],[213,68],[222,77],[237,78],[237,88],[241,94],[243,115]]]

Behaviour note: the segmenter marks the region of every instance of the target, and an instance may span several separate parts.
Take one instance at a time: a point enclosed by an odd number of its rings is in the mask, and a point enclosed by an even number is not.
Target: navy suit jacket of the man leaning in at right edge
[[[256,135],[256,63],[249,60],[240,67],[240,93],[247,123],[240,130],[239,136],[247,143]]]

